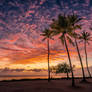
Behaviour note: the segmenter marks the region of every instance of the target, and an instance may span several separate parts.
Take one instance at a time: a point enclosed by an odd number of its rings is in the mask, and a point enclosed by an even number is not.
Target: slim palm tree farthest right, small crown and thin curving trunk
[[[89,74],[89,77],[91,77],[91,73],[89,71],[89,67],[88,67],[88,58],[87,58],[87,44],[89,44],[89,41],[92,41],[91,40],[91,34],[89,32],[85,32],[83,31],[81,33],[81,36],[79,37],[81,39],[82,42],[84,42],[84,50],[85,50],[85,57],[86,57],[86,67],[87,67],[87,71],[88,71],[88,74]]]

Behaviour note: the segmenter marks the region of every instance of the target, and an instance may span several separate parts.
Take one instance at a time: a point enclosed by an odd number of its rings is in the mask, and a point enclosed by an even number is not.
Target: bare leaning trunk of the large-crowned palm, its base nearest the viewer
[[[75,80],[74,80],[73,68],[72,68],[72,63],[71,63],[70,53],[69,53],[69,50],[68,50],[68,46],[67,46],[67,42],[66,42],[66,38],[65,38],[65,36],[64,36],[64,41],[65,41],[65,47],[66,47],[66,51],[67,51],[67,55],[68,55],[68,59],[69,59],[69,64],[70,64],[70,68],[71,68],[71,73],[72,73],[72,86],[75,86]]]

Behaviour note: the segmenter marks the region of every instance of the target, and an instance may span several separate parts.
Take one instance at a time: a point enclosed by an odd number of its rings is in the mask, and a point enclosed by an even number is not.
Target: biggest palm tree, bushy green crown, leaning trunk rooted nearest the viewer
[[[67,45],[67,40],[73,44],[73,42],[71,40],[71,35],[73,35],[73,33],[72,33],[72,30],[70,30],[71,27],[70,27],[67,16],[60,14],[58,16],[57,20],[53,19],[53,23],[51,24],[51,28],[53,29],[53,35],[61,34],[61,36],[59,38],[61,39],[61,42],[63,43],[63,45],[65,45],[70,68],[71,68],[72,86],[75,86],[74,73],[73,73],[70,53],[69,53],[69,49],[68,49],[68,45]]]

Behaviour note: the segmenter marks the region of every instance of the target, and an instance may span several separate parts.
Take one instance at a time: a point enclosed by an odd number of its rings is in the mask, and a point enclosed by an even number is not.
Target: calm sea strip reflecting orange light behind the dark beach
[[[69,74],[69,76],[71,77],[71,74]],[[51,74],[51,78],[63,78],[66,77],[66,74]],[[82,77],[81,74],[75,75],[75,77]],[[48,75],[3,75],[0,76],[0,81],[2,80],[19,80],[19,79],[44,79],[44,78],[48,78]]]

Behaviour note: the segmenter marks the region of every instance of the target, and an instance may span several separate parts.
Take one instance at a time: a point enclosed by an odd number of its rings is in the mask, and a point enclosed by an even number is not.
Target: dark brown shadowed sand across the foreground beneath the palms
[[[88,79],[92,82],[92,79]],[[92,92],[92,83],[79,83],[71,87],[71,80],[47,80],[0,82],[0,92]]]

